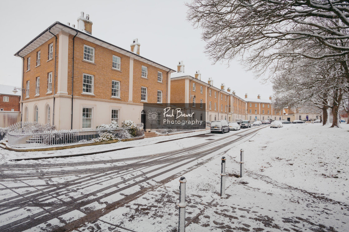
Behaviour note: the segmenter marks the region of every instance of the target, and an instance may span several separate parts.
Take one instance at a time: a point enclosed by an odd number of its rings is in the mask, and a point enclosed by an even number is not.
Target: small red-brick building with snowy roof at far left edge
[[[14,94],[14,86],[0,85],[0,111],[20,111],[21,93]]]

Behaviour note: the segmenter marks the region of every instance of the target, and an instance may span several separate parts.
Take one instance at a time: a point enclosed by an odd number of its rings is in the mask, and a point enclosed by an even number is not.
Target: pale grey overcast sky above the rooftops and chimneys
[[[187,7],[181,0],[148,1],[3,1],[0,9],[3,46],[0,56],[0,84],[21,86],[21,58],[19,49],[34,39],[55,21],[70,22],[77,27],[80,12],[90,15],[92,35],[129,50],[132,40],[138,38],[140,55],[177,70],[178,61],[184,61],[185,73],[194,76],[201,72],[201,80],[213,78],[215,87],[225,83],[239,97],[267,99],[272,85],[254,79],[239,61],[212,65],[203,53],[205,42],[201,30],[194,29],[186,20]]]

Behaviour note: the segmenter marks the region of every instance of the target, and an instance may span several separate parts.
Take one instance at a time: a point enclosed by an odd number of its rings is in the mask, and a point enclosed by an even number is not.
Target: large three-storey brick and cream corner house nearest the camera
[[[22,121],[56,129],[145,120],[144,102],[170,101],[174,70],[140,56],[140,43],[117,47],[92,36],[89,15],[55,22],[15,56],[22,58]]]

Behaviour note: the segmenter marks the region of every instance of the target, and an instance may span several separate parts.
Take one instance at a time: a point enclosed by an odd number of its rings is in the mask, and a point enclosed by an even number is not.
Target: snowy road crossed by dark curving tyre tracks
[[[82,157],[7,161],[0,166],[0,231],[69,231],[96,221],[262,128]]]

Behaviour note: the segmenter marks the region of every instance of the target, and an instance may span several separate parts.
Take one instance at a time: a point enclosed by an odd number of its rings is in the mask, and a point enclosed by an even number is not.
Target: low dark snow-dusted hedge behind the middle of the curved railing
[[[77,130],[54,130],[42,133],[42,142],[47,145],[69,144],[78,142]]]

